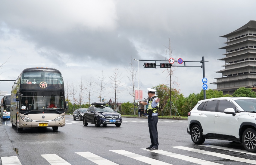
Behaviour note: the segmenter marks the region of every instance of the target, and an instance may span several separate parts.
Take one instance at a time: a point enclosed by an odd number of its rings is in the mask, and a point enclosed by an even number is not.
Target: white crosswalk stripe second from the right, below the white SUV
[[[192,152],[206,154],[206,155],[211,155],[211,156],[216,156],[216,157],[220,157],[220,158],[224,158],[224,159],[229,159],[229,160],[233,160],[233,161],[239,161],[239,162],[245,162],[245,163],[250,163],[250,164],[256,164],[256,161],[254,161],[254,160],[245,159],[245,158],[238,158],[238,157],[234,157],[234,156],[230,156],[230,155],[225,155],[225,154],[220,154],[220,153],[211,152],[211,151],[203,151],[203,150],[200,150],[200,149],[193,149],[193,148],[183,147],[183,146],[177,146],[177,147],[173,147],[173,148],[183,149],[183,150],[186,150],[186,151],[192,151]]]

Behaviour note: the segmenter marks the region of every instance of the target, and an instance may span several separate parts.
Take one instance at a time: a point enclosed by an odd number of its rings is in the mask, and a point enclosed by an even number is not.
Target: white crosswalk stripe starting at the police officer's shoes
[[[155,150],[155,151],[150,151],[148,149],[143,149],[143,150],[158,153],[158,154],[161,154],[161,155],[170,156],[172,158],[177,158],[177,159],[181,159],[181,160],[184,160],[184,161],[189,161],[189,162],[196,163],[196,164],[202,164],[202,165],[217,165],[217,164],[219,164],[219,163],[214,163],[214,162],[211,162],[211,161],[205,161],[205,160],[202,160],[202,159],[193,158],[193,157],[180,155],[180,154],[175,154],[173,152],[167,152],[167,151],[163,151],[163,150]],[[220,165],[222,165],[222,164],[220,164]]]

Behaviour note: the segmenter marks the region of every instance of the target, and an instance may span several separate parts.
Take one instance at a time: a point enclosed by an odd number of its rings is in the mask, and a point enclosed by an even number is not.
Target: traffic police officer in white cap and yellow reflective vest
[[[148,105],[147,116],[148,116],[148,128],[151,140],[151,145],[146,149],[158,150],[158,132],[157,132],[157,122],[158,122],[158,107],[160,99],[155,96],[156,90],[148,88],[148,101],[142,102],[142,105]]]

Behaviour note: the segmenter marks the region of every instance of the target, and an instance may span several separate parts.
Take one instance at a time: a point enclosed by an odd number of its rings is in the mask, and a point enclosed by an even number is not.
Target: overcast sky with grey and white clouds
[[[250,20],[256,20],[254,0],[44,0],[0,1],[0,80],[14,80],[29,67],[48,67],[61,71],[65,84],[77,85],[101,72],[107,83],[103,97],[114,100],[110,77],[115,68],[121,75],[122,94],[118,102],[133,102],[125,67],[132,61],[165,60],[171,41],[172,57],[200,61],[204,56],[205,77],[209,84],[221,77],[226,38],[223,36]],[[139,83],[143,97],[147,88],[170,84],[164,69],[144,68],[139,62]],[[160,62],[157,62],[159,65]],[[175,63],[175,65],[179,65]],[[186,63],[201,66],[201,63]],[[203,73],[200,67],[173,67],[173,80],[184,96],[199,93]],[[13,82],[0,82],[0,90],[11,92]],[[138,74],[136,75],[138,88]],[[175,88],[175,87],[173,87]],[[94,90],[99,87],[95,86]],[[92,101],[98,101],[94,93]],[[84,102],[88,102],[85,98]]]

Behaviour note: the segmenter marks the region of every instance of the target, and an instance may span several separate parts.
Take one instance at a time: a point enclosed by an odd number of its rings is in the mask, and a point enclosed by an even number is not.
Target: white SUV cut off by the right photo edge
[[[188,113],[187,132],[195,144],[205,139],[230,140],[256,152],[256,98],[201,100]]]

